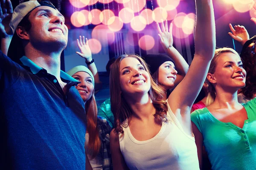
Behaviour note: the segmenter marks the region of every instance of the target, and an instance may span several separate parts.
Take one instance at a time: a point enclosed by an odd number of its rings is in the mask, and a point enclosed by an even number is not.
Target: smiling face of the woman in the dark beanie
[[[166,61],[158,68],[157,82],[158,84],[168,90],[174,87],[177,71],[175,65],[171,61]]]

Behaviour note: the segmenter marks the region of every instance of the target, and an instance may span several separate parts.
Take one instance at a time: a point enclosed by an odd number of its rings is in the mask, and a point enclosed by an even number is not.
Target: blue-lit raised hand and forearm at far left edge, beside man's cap
[[[13,11],[11,0],[1,0],[0,6],[1,51],[3,52],[3,54],[7,55],[13,35],[12,30],[9,26]]]

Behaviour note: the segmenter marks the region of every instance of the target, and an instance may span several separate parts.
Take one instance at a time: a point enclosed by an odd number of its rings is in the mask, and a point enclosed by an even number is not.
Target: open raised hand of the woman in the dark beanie
[[[169,31],[167,26],[167,20],[165,20],[165,23],[161,23],[161,28],[159,26],[159,23],[157,24],[157,31],[158,36],[160,38],[160,43],[163,46],[163,48],[166,50],[167,48],[172,47],[173,44],[173,38],[172,38],[172,23],[170,24]]]

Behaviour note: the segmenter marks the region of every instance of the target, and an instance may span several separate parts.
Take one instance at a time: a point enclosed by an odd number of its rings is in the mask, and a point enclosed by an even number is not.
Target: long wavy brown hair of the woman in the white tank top
[[[168,106],[166,101],[163,100],[165,92],[160,88],[150,76],[148,71],[148,66],[145,61],[137,55],[122,55],[116,59],[113,63],[110,73],[110,100],[111,100],[111,111],[115,118],[115,132],[123,133],[122,127],[128,127],[131,120],[132,110],[128,103],[125,101],[125,98],[122,96],[121,87],[120,87],[120,73],[119,66],[122,59],[126,57],[133,57],[137,59],[141,65],[145,68],[145,71],[148,72],[151,82],[151,88],[148,91],[148,94],[152,100],[153,106],[156,109],[154,114],[155,122],[162,123],[168,122],[166,113],[168,111]],[[125,119],[128,119],[128,124],[124,125]]]

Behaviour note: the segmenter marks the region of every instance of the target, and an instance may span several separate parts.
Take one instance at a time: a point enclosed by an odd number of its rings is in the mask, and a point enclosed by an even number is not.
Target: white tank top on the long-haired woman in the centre
[[[159,133],[146,141],[136,140],[129,127],[123,127],[120,150],[130,170],[199,170],[195,138],[185,133],[169,105],[167,118]]]

